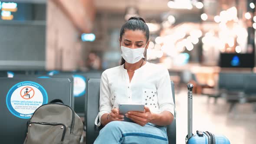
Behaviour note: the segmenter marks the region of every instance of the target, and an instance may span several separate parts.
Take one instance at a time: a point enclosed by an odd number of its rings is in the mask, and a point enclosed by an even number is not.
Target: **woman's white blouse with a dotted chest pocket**
[[[102,115],[118,108],[120,103],[143,103],[153,113],[170,111],[174,115],[168,70],[161,65],[146,62],[135,70],[131,82],[124,65],[105,70],[101,77],[99,114],[95,124],[100,126]]]

